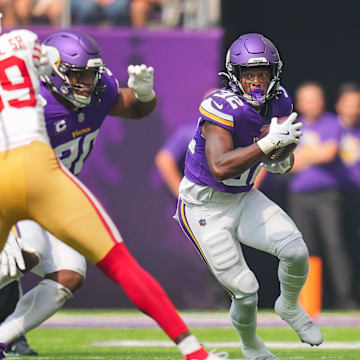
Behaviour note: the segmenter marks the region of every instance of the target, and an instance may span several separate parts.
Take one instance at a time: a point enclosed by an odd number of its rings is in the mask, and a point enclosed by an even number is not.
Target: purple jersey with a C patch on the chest
[[[45,121],[51,146],[61,162],[78,175],[92,151],[102,122],[118,98],[118,82],[106,69],[101,81],[106,85],[100,93],[101,102],[70,109],[54,97],[44,83],[40,94],[45,99]],[[94,100],[94,99],[93,99]]]

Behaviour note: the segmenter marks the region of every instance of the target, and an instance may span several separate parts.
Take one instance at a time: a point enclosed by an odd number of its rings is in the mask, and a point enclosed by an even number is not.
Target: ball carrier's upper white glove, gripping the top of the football
[[[297,113],[293,112],[289,117],[278,124],[277,117],[271,119],[269,133],[260,139],[257,144],[264,154],[268,154],[274,149],[278,149],[290,144],[298,144],[302,132],[301,122],[294,123],[297,118]]]

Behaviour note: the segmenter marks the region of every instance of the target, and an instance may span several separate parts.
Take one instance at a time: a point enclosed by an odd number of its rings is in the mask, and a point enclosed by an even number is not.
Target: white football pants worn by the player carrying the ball
[[[290,217],[258,190],[223,193],[184,178],[175,218],[217,280],[239,299],[259,287],[240,244],[278,256],[301,239]]]

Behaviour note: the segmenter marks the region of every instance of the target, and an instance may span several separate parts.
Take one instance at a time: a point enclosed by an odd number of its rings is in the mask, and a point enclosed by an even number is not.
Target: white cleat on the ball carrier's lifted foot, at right
[[[302,342],[311,346],[320,345],[323,342],[319,327],[299,304],[295,309],[286,309],[282,305],[279,296],[275,301],[274,309],[281,319],[286,321],[297,332]]]

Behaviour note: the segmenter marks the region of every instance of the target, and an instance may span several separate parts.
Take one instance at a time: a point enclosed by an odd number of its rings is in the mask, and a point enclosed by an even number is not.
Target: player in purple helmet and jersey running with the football
[[[308,274],[308,250],[289,216],[253,183],[261,167],[283,173],[289,158],[262,159],[274,149],[297,144],[302,135],[292,102],[280,86],[282,61],[261,34],[236,39],[226,56],[224,88],[200,104],[198,127],[188,147],[175,218],[211,272],[232,297],[230,317],[247,360],[278,359],[256,334],[259,288],[241,244],[279,260],[281,294],[275,312],[301,341],[319,345],[322,334],[298,304]],[[288,116],[283,123],[278,117]],[[268,135],[259,139],[270,123]]]

